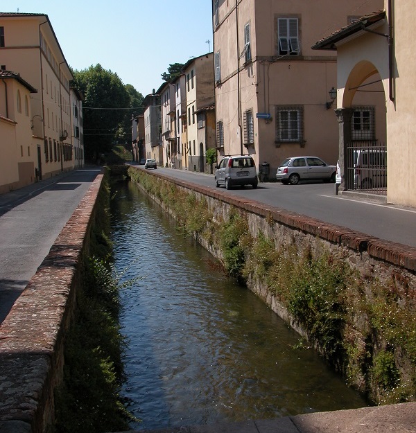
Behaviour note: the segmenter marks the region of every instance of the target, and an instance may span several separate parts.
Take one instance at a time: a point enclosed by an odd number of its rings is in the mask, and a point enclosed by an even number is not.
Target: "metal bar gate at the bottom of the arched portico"
[[[352,141],[347,145],[349,191],[387,194],[387,146],[378,141]]]

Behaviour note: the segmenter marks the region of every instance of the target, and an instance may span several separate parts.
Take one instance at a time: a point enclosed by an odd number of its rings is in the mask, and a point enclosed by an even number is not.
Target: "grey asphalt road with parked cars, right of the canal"
[[[143,166],[139,168],[144,169]],[[158,173],[198,185],[216,189],[214,175],[193,173],[171,168],[157,168]],[[231,195],[257,200],[258,202],[307,215],[324,222],[360,231],[384,240],[416,247],[416,209],[383,204],[365,197],[345,197],[335,194],[334,184],[308,182],[298,185],[283,185],[280,182],[259,183],[251,186],[236,186],[227,191]]]

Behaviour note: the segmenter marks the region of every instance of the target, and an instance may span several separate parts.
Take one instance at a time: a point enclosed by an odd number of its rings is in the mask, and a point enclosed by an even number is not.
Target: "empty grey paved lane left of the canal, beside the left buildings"
[[[0,195],[0,323],[99,173],[72,170]]]

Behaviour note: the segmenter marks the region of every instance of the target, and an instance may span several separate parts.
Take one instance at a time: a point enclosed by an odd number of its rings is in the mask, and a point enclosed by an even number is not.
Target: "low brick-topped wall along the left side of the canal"
[[[64,334],[89,251],[98,175],[0,326],[0,432],[49,431],[53,391],[62,382]]]

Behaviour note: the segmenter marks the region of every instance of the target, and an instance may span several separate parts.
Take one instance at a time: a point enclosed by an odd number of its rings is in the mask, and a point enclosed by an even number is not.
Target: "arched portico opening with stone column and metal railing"
[[[344,87],[338,89],[339,100],[342,101],[342,108],[336,109],[341,172],[339,190],[356,189],[385,195],[385,89],[381,74],[372,62],[361,60],[352,67]],[[358,166],[363,165],[365,170],[358,170]]]

